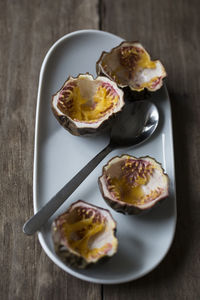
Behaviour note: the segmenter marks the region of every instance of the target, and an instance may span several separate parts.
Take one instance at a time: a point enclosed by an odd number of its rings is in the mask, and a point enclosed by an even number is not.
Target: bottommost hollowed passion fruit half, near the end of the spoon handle
[[[85,268],[117,252],[116,222],[106,209],[79,200],[56,218],[52,236],[57,255]]]

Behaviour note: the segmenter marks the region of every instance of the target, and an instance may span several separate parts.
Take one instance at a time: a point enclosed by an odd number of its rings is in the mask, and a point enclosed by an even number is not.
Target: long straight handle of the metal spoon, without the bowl
[[[106,157],[113,147],[109,144],[99,152],[85,167],[83,167],[64,187],[49,200],[34,216],[32,216],[23,226],[23,232],[32,235],[39,230],[42,225],[54,214],[63,202],[77,189],[83,180],[96,168],[96,166]]]

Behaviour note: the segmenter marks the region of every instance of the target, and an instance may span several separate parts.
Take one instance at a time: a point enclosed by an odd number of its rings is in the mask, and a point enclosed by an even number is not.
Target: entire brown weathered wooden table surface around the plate
[[[0,1],[0,299],[200,299],[200,2]],[[139,40],[166,66],[174,130],[178,221],[164,261],[121,285],[59,269],[22,225],[33,214],[33,148],[40,66],[50,46],[79,29]]]

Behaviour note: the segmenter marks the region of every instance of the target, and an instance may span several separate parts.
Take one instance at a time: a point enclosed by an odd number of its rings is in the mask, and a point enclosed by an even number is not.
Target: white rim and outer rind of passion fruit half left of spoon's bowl
[[[64,88],[68,82],[79,79],[81,76],[82,77],[84,76],[85,78],[88,77],[93,81],[102,80],[102,82],[110,83],[113,86],[113,88],[117,91],[117,93],[119,94],[120,99],[119,99],[118,109],[115,109],[115,111],[113,111],[112,114],[106,115],[104,118],[102,118],[102,120],[93,122],[93,124],[91,124],[91,123],[89,124],[89,122],[88,123],[87,122],[77,122],[77,121],[73,120],[72,118],[70,118],[68,115],[59,111],[57,109],[57,107],[55,107],[55,104],[54,104],[55,97],[59,96],[59,94],[64,90]],[[106,132],[111,128],[112,122],[113,122],[115,116],[121,112],[124,104],[125,104],[124,92],[118,88],[118,86],[116,85],[115,82],[111,81],[110,79],[108,79],[105,76],[98,76],[98,77],[94,78],[91,74],[86,73],[86,74],[79,74],[77,77],[69,76],[67,78],[67,80],[64,82],[61,89],[52,96],[51,109],[52,109],[52,112],[53,112],[55,118],[59,122],[59,124],[64,129],[66,129],[68,132],[70,132],[71,134],[73,134],[75,136],[91,136],[91,135],[95,136],[95,135],[99,135],[103,132]],[[81,126],[79,123],[82,123]]]

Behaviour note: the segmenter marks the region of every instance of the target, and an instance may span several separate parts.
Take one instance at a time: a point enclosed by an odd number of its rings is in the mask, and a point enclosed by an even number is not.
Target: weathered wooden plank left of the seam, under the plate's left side
[[[32,168],[42,60],[61,36],[98,28],[97,0],[0,1],[0,299],[101,299],[101,286],[54,265],[37,237],[22,233],[33,214]]]

